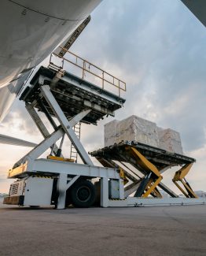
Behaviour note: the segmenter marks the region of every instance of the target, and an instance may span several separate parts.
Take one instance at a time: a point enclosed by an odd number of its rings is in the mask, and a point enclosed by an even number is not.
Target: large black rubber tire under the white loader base
[[[94,204],[96,191],[94,184],[89,180],[79,180],[70,191],[72,204],[79,208],[88,208]]]

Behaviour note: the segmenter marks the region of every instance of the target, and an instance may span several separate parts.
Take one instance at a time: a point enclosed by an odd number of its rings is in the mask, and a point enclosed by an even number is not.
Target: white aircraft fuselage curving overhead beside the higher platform
[[[1,0],[0,121],[33,67],[90,15],[101,0]]]

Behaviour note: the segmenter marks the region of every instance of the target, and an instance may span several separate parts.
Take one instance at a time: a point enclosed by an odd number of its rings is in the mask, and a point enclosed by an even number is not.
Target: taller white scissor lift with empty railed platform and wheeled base
[[[20,96],[44,139],[9,170],[9,178],[19,180],[11,185],[9,197],[5,198],[4,203],[41,206],[51,200],[49,204],[56,205],[58,209],[63,209],[70,202],[75,206],[90,206],[95,199],[94,185],[90,180],[100,178],[101,206],[106,206],[109,180],[116,180],[119,198],[123,198],[119,169],[95,166],[73,128],[79,123],[97,124],[104,117],[114,116],[116,109],[120,109],[125,102],[120,97],[120,91],[125,91],[126,85],[97,66],[94,68],[100,71],[101,76],[95,75],[93,65],[76,55],[73,65],[82,69],[83,76],[75,76],[64,69],[66,58],[53,55],[60,59],[61,66],[55,65],[51,57],[49,67],[40,67],[30,82],[31,86]],[[83,66],[78,61],[82,61]],[[71,61],[68,62],[71,64]],[[86,72],[100,79],[101,86],[85,80]],[[115,87],[117,94],[105,90],[106,85]],[[52,133],[39,113],[47,117],[53,127]],[[83,164],[64,158],[62,146],[65,136],[71,141]],[[57,146],[60,139],[61,143]],[[40,158],[48,149],[50,155]],[[48,177],[50,180],[46,180]],[[43,197],[45,200],[42,200]]]

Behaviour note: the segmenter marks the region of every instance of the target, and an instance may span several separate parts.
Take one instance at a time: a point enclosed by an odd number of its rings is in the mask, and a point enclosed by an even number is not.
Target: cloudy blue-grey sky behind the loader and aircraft
[[[184,153],[197,162],[187,176],[206,191],[206,28],[179,0],[104,0],[72,46],[75,54],[127,83],[116,119],[143,117],[180,132]],[[104,147],[104,124],[83,125],[86,150]],[[0,133],[40,142],[42,137],[16,101]],[[66,144],[68,146],[68,143]],[[8,169],[28,148],[0,145],[0,192],[9,191]],[[64,150],[70,150],[69,147]],[[66,151],[67,154],[67,151]],[[168,170],[163,182],[174,189]]]

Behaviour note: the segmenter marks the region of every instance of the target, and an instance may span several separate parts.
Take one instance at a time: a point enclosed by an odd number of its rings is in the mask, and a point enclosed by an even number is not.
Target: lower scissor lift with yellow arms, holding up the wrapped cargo
[[[120,176],[124,180],[125,200],[109,200],[108,206],[205,203],[204,198],[197,198],[188,182],[184,180],[195,162],[194,158],[134,141],[114,144],[110,147],[90,152],[90,154],[101,165],[120,169]],[[186,198],[180,198],[162,182],[162,173],[174,166],[181,166],[181,169],[175,173],[173,182]],[[139,173],[141,173],[141,176]],[[177,181],[182,182],[186,191],[180,187]],[[167,193],[167,198],[162,197],[159,188]]]

